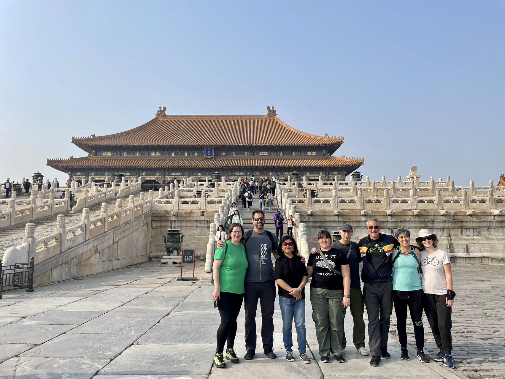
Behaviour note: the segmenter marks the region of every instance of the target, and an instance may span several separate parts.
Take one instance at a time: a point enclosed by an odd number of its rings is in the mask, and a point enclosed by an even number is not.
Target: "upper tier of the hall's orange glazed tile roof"
[[[296,130],[277,117],[157,116],[136,128],[103,136],[72,137],[85,151],[108,146],[320,146],[332,154],[343,137]]]

